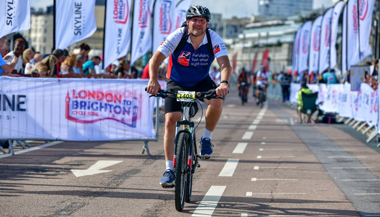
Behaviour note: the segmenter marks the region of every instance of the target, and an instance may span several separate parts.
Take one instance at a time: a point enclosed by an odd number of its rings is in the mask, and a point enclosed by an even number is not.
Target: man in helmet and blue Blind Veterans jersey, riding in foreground
[[[203,6],[191,6],[186,12],[186,25],[171,33],[158,47],[149,61],[149,83],[147,92],[157,94],[160,84],[157,80],[159,64],[169,57],[168,71],[166,72],[167,90],[174,91],[217,91],[218,96],[228,93],[228,82],[231,78],[231,65],[227,49],[223,40],[214,31],[209,30],[211,14]],[[188,30],[187,30],[188,28]],[[185,32],[185,30],[187,30]],[[186,38],[187,37],[187,38]],[[184,45],[181,39],[185,38]],[[180,46],[184,47],[180,47]],[[180,49],[177,49],[179,47]],[[179,50],[179,51],[178,51]],[[221,71],[221,83],[217,87],[208,75],[211,63],[217,59]],[[206,111],[206,129],[199,143],[199,156],[212,155],[211,135],[222,113],[222,99],[205,100],[208,105]],[[162,186],[172,186],[174,183],[173,153],[175,124],[182,117],[181,103],[174,98],[165,99],[165,134],[164,150],[166,171],[160,180]]]

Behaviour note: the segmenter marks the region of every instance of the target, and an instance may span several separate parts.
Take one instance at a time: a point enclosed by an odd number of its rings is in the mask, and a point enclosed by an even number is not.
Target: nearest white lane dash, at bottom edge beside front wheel
[[[210,217],[218,205],[226,186],[211,186],[192,216]]]

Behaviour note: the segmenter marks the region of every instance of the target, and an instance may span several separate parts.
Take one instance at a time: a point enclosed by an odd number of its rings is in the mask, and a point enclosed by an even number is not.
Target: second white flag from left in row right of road
[[[310,31],[311,31],[311,21],[306,21],[302,25],[302,31],[300,36],[300,47],[299,47],[299,64],[298,71],[303,72],[307,70],[307,63],[309,58],[309,45],[310,45]]]

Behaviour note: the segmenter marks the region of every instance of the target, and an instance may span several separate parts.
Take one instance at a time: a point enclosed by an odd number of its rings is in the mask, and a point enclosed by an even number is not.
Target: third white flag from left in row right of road
[[[311,28],[311,40],[309,50],[309,75],[318,72],[319,48],[321,42],[322,15],[315,18]]]

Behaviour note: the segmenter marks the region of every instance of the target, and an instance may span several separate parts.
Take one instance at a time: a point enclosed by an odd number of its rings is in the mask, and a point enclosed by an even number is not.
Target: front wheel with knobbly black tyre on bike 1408
[[[176,186],[174,187],[174,201],[176,204],[176,210],[180,212],[184,209],[185,204],[188,134],[184,132],[180,133],[177,142]]]

